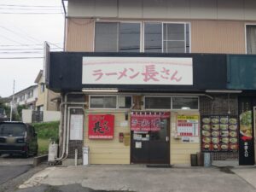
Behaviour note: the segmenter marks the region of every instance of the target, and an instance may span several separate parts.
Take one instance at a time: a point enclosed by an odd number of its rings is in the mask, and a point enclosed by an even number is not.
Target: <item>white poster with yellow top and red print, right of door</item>
[[[198,137],[199,116],[198,115],[177,115],[177,136]]]

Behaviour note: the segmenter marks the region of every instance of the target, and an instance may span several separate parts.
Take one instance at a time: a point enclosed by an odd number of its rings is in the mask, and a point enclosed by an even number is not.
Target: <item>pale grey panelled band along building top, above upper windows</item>
[[[70,0],[68,16],[119,19],[256,20],[256,1]]]

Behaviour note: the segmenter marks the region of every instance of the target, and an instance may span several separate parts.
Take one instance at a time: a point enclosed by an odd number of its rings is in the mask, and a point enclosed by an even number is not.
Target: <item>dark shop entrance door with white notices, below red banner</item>
[[[131,131],[131,163],[170,164],[170,118],[159,131]]]

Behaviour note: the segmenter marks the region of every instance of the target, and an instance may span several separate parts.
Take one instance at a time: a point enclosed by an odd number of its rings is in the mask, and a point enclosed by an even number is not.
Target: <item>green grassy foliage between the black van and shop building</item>
[[[39,139],[52,139],[55,143],[59,140],[59,121],[47,123],[33,123]]]

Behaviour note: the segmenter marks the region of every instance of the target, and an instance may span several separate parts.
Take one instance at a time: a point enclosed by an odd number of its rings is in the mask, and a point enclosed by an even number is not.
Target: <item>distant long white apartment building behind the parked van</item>
[[[26,108],[34,110],[38,100],[38,85],[32,85],[24,90],[15,93],[13,108],[24,105]],[[13,95],[9,96],[9,105],[13,102]]]

